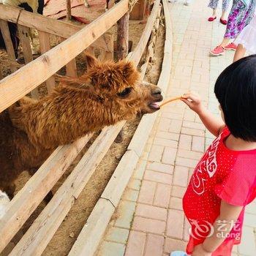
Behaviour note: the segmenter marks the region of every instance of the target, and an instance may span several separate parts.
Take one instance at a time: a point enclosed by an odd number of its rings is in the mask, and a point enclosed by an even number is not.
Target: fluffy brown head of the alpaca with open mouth
[[[111,101],[114,111],[129,113],[154,113],[162,101],[161,89],[140,80],[140,74],[131,62],[100,63],[89,56],[86,78],[99,98]],[[88,58],[87,58],[88,59]]]

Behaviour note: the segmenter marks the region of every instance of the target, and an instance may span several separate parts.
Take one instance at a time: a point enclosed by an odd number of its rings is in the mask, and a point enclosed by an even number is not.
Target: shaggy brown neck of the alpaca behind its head
[[[24,105],[17,126],[22,124],[37,146],[56,148],[119,121],[110,104],[105,107],[86,91],[60,87],[45,99]]]

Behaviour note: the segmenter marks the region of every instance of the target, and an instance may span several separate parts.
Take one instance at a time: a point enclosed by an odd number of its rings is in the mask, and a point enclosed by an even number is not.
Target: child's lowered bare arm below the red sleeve
[[[233,206],[222,200],[219,217],[214,222],[213,235],[206,238],[203,244],[195,246],[192,256],[210,256],[230,233],[242,209],[243,206]]]

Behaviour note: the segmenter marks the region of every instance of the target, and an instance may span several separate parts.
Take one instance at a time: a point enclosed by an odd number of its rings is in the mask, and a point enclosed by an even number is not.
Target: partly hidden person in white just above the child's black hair
[[[235,42],[238,45],[233,62],[244,57],[246,50],[250,54],[256,53],[256,14],[236,38]]]

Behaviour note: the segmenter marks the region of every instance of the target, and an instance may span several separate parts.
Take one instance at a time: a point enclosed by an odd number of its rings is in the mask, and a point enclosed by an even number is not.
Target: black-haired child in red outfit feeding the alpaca
[[[256,55],[227,67],[214,92],[223,121],[197,95],[181,99],[217,136],[195,167],[183,198],[192,225],[187,255],[192,256],[230,256],[241,241],[244,208],[256,197]]]

